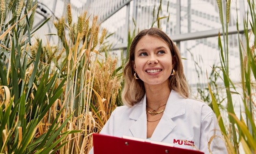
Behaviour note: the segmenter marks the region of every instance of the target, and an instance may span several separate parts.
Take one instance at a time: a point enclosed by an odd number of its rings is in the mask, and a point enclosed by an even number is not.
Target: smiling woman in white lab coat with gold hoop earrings
[[[163,31],[142,30],[130,46],[122,99],[101,134],[171,143],[175,147],[227,153],[213,110],[189,99],[180,53]]]

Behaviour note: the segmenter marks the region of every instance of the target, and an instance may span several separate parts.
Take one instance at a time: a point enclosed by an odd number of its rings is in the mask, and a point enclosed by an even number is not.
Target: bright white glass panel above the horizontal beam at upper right
[[[226,9],[226,1],[223,0],[222,5]],[[240,9],[243,2],[231,1],[230,4],[230,22],[229,26],[236,25],[236,19],[242,21],[244,9]],[[226,18],[226,10],[223,10],[224,21]],[[236,17],[237,9],[237,17]],[[219,19],[218,5],[216,0],[181,0],[181,34],[192,33],[205,30],[221,29]],[[242,23],[242,22],[241,22]]]

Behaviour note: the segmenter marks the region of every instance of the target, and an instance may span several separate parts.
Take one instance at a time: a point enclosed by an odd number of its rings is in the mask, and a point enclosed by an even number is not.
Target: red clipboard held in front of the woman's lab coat
[[[204,154],[197,150],[96,133],[93,134],[93,152],[94,154]]]

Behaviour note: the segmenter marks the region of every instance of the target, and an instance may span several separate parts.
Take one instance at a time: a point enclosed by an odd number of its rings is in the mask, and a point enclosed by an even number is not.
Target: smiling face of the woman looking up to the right
[[[173,68],[168,44],[157,36],[143,36],[135,47],[133,68],[145,87],[150,85],[169,86]]]

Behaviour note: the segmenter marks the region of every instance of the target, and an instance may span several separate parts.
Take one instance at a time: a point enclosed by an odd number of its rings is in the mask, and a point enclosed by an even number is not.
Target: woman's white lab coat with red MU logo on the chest
[[[146,96],[132,107],[117,107],[102,128],[100,134],[115,137],[130,136],[147,138]],[[208,142],[213,154],[226,154],[226,146],[213,110],[201,101],[183,98],[171,90],[167,105],[159,121],[152,141],[171,143],[174,147],[186,148],[208,154]],[[187,141],[187,142],[186,142]],[[196,148],[193,148],[194,145]],[[89,154],[93,154],[93,149]]]

